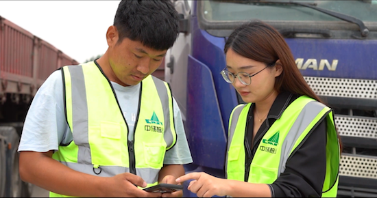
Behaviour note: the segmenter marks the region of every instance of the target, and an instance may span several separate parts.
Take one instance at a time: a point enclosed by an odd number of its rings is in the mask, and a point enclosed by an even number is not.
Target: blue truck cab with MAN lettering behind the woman
[[[223,47],[237,26],[259,19],[284,36],[308,85],[335,109],[339,197],[377,196],[377,1],[173,2],[180,35],[165,57],[165,81],[193,156],[186,172],[225,176],[228,120],[243,101],[219,74]]]

